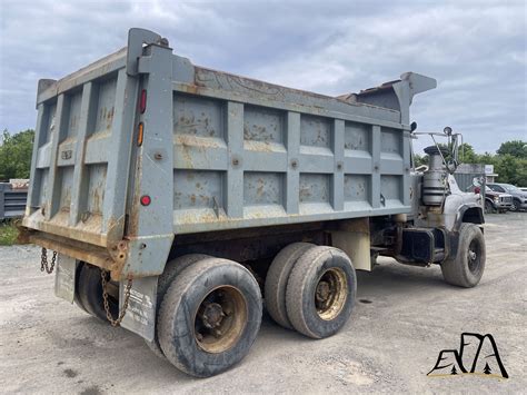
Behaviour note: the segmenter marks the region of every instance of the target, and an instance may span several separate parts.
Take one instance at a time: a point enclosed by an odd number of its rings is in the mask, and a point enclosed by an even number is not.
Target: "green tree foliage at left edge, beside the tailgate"
[[[29,178],[34,130],[28,129],[16,135],[3,130],[0,146],[0,180]]]

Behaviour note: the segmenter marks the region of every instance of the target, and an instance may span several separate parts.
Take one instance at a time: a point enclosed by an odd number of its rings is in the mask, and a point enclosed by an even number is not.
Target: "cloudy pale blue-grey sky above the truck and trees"
[[[330,96],[406,71],[434,77],[410,109],[418,131],[450,126],[495,152],[527,140],[526,20],[523,0],[0,0],[0,129],[34,128],[40,78],[122,48],[141,27],[195,65]]]

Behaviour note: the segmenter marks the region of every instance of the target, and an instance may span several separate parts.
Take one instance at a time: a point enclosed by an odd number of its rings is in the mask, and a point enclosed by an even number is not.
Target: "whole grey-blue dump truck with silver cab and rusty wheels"
[[[317,95],[130,29],[126,48],[39,81],[20,237],[42,247],[57,296],[197,377],[248,354],[264,303],[287,329],[336,334],[378,256],[474,287],[484,215],[453,177],[458,135],[431,132],[448,144],[412,162],[410,103],[432,88],[406,72]]]

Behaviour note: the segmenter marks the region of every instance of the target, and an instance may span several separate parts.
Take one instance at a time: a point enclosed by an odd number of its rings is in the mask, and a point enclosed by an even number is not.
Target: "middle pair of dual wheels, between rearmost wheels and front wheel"
[[[266,278],[266,306],[279,325],[311,338],[337,333],[355,306],[357,277],[338,248],[296,243],[284,248]]]

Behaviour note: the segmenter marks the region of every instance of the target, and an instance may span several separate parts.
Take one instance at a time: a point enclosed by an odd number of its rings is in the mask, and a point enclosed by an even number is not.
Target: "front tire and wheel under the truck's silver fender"
[[[445,282],[458,287],[475,287],[485,270],[486,248],[481,229],[475,224],[461,224],[456,257],[441,264]]]

